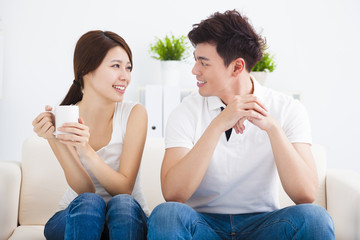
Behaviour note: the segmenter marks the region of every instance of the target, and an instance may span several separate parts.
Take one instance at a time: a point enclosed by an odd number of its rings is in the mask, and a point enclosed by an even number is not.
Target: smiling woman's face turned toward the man
[[[84,94],[88,91],[111,102],[122,101],[131,81],[131,67],[123,48],[111,48],[100,66],[84,76]]]

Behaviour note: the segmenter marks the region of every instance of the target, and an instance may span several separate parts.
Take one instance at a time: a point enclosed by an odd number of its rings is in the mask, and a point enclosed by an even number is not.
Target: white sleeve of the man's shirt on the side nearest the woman
[[[185,147],[194,145],[196,119],[186,104],[180,104],[170,114],[165,129],[165,148]]]

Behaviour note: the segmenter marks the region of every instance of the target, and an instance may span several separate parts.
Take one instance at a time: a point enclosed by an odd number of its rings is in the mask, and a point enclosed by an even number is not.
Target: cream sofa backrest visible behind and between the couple
[[[325,151],[314,145],[312,151],[318,166],[319,192],[316,204],[325,202]],[[164,156],[164,139],[148,138],[141,163],[141,185],[150,210],[164,202],[161,193],[160,169]],[[46,140],[29,138],[23,145],[20,225],[44,225],[55,213],[67,187],[63,170]],[[280,206],[294,203],[280,186]]]

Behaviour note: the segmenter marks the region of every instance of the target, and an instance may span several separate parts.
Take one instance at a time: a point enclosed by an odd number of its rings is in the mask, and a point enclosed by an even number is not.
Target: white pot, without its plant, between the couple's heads
[[[162,84],[166,86],[179,86],[182,78],[182,62],[169,60],[161,61]]]

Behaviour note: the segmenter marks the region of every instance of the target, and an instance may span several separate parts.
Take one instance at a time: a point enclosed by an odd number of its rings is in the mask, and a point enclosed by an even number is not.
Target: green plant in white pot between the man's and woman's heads
[[[163,39],[155,38],[150,44],[151,57],[161,61],[162,83],[178,86],[181,79],[181,63],[189,56],[190,45],[187,37],[166,35]]]

